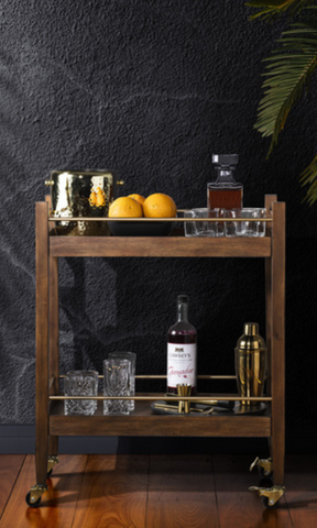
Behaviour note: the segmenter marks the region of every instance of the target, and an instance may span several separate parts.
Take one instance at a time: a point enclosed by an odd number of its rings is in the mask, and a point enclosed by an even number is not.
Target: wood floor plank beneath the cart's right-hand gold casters
[[[293,527],[284,497],[277,508],[265,509],[258,494],[249,492],[249,486],[260,484],[258,473],[249,472],[252,457],[216,455],[212,462],[220,528]],[[269,482],[265,487],[270,487]]]

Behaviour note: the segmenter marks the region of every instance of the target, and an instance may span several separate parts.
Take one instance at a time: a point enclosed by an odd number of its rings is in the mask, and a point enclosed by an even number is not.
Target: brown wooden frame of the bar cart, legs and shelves
[[[62,435],[267,437],[274,485],[283,486],[285,204],[278,202],[275,195],[267,195],[265,207],[267,211],[272,210],[272,217],[266,223],[266,237],[263,238],[185,238],[174,237],[173,233],[165,238],[116,238],[56,235],[55,223],[50,218],[50,197],[46,197],[46,201],[36,202],[36,485],[26,495],[30,506],[37,506],[42,494],[47,490],[47,471],[51,473],[58,460],[58,437]],[[150,402],[162,399],[163,395],[136,394],[135,410],[130,416],[103,416],[102,396],[99,396],[96,415],[65,416],[63,396],[59,395],[58,370],[58,258],[65,256],[263,257],[269,367],[266,396],[253,399],[267,402],[267,411],[263,416],[209,418],[153,415]],[[237,395],[208,397],[239,400]]]

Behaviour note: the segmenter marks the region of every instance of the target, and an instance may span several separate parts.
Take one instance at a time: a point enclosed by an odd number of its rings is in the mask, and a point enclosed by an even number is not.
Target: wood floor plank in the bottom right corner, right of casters
[[[295,528],[317,526],[317,455],[286,457],[285,498]]]

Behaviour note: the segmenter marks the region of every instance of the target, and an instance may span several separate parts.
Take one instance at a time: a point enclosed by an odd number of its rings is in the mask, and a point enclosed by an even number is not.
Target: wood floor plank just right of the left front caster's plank
[[[149,457],[89,455],[73,528],[144,528]]]

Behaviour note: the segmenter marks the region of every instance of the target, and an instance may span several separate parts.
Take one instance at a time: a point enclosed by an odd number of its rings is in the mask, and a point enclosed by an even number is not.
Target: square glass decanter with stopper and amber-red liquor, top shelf
[[[207,184],[208,209],[243,207],[243,185],[236,182],[232,174],[238,161],[238,154],[212,154],[217,179]]]

